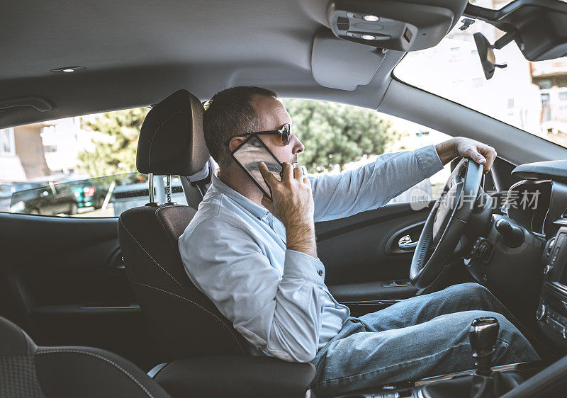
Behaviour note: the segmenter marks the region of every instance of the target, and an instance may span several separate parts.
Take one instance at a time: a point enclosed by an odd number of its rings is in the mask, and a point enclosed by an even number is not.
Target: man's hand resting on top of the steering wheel
[[[493,147],[466,137],[451,138],[451,140],[435,145],[435,149],[442,164],[447,164],[456,157],[468,157],[482,164],[485,174],[490,171],[496,159],[496,151]]]

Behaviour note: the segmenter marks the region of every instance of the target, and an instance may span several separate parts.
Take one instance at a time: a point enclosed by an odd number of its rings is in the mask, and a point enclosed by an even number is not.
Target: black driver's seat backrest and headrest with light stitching
[[[147,114],[137,148],[140,173],[191,176],[208,162],[203,106],[179,90]],[[161,177],[160,177],[161,178]],[[195,215],[185,205],[126,210],[118,239],[134,295],[163,360],[248,353],[242,336],[186,275],[177,241]]]

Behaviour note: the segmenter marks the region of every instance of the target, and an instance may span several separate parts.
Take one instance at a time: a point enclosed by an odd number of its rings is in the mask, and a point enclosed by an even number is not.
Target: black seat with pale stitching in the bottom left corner
[[[38,347],[0,317],[0,398],[169,398],[140,368],[99,348]]]

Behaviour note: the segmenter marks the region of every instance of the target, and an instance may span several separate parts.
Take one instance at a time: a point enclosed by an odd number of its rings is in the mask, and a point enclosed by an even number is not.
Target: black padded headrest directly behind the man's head
[[[137,143],[136,168],[158,176],[191,176],[209,159],[203,137],[203,105],[179,90],[147,113]]]

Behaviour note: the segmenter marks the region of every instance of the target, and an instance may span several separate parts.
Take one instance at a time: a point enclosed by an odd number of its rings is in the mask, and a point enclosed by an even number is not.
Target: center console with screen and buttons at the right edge
[[[549,239],[542,257],[544,281],[536,317],[551,341],[567,348],[567,227]]]

